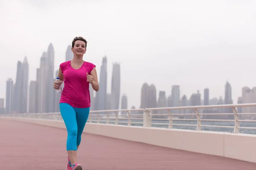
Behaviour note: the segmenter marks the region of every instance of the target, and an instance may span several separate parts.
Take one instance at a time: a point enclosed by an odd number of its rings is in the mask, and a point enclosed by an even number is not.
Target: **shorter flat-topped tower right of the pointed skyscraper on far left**
[[[36,81],[30,81],[29,85],[29,113],[36,113]]]

